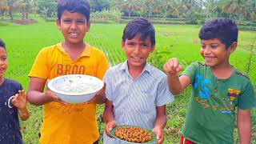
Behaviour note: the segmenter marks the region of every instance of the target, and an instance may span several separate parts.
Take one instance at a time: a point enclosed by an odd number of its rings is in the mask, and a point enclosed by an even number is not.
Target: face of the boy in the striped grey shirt
[[[150,37],[142,41],[141,36],[137,34],[130,40],[122,41],[122,49],[126,52],[129,68],[143,69],[146,59],[154,51],[154,46],[151,46]]]

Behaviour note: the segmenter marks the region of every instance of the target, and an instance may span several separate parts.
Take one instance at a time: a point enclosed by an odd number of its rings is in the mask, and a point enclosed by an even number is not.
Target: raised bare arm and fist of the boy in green
[[[186,75],[178,77],[182,66],[179,64],[177,58],[170,58],[163,66],[163,70],[165,70],[168,75],[168,87],[172,94],[180,94],[186,86],[190,85],[190,77]]]

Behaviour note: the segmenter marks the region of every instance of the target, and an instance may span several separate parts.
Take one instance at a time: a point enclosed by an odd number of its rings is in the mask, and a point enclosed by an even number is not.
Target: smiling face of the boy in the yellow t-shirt
[[[69,44],[81,44],[86,32],[90,30],[90,22],[80,13],[70,13],[65,10],[61,19],[57,20],[58,29],[62,31],[65,42]]]

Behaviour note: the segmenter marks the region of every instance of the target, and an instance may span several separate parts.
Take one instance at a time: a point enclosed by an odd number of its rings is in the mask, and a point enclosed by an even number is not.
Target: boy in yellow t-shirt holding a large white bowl
[[[108,62],[101,50],[83,42],[90,30],[90,4],[86,0],[58,2],[58,29],[64,41],[42,49],[30,70],[28,101],[44,106],[40,143],[98,143],[96,103],[105,102],[105,89],[89,104],[66,104],[50,90],[47,79],[64,74],[88,74],[102,78]]]

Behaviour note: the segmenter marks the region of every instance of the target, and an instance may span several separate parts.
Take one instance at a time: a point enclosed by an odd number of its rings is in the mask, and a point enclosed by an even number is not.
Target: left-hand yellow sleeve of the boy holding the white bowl
[[[38,53],[37,58],[35,58],[34,64],[28,76],[47,79],[48,71],[47,51],[43,49]]]

